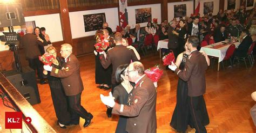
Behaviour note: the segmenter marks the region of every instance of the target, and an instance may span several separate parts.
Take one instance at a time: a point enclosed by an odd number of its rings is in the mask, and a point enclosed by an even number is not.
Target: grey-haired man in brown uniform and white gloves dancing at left
[[[81,105],[81,94],[84,86],[80,76],[80,63],[72,54],[72,46],[68,43],[62,45],[60,54],[65,58],[63,69],[52,68],[50,65],[44,65],[44,69],[52,71],[51,76],[61,78],[72,112],[70,124],[79,124],[79,117],[82,117],[85,119],[84,127],[87,127],[91,123],[93,115]]]

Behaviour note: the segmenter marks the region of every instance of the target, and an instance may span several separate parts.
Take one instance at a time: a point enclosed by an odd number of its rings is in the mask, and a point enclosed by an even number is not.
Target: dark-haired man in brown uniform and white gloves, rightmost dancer
[[[169,68],[188,84],[188,100],[192,124],[196,132],[207,132],[205,125],[209,124],[209,117],[203,94],[205,93],[205,71],[208,68],[205,56],[197,50],[199,39],[190,36],[186,42],[190,56],[186,59],[184,70],[180,70],[172,62]]]

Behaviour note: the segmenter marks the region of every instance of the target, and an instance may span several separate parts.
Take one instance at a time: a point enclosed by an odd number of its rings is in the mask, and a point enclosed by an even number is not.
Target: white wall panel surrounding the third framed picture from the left
[[[180,4],[186,4],[188,17],[190,16],[191,13],[193,13],[193,1],[168,3],[168,21],[171,21],[174,18],[173,5],[180,5]],[[177,20],[179,20],[179,18]]]

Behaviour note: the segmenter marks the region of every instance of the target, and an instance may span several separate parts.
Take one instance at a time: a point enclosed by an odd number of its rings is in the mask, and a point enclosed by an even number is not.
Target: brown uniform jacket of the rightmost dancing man
[[[205,71],[208,68],[205,56],[198,50],[186,59],[184,70],[177,68],[175,73],[188,84],[188,96],[197,97],[205,93]]]

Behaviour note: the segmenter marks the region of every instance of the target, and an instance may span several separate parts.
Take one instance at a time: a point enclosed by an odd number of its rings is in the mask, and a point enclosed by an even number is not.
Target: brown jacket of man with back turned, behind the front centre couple
[[[112,71],[112,84],[116,84],[116,70],[119,65],[130,64],[132,61],[138,61],[138,58],[134,52],[130,49],[127,49],[123,45],[114,46],[112,49],[107,51],[107,56],[104,58],[104,55],[99,56],[100,63],[103,68],[109,67],[110,64],[113,66]]]

